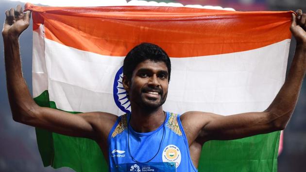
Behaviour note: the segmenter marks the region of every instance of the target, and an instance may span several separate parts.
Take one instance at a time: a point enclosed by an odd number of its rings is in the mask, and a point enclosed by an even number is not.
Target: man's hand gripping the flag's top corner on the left
[[[11,8],[5,11],[5,21],[2,29],[3,38],[9,36],[19,37],[19,35],[29,27],[31,11],[23,13],[21,5],[16,9]]]

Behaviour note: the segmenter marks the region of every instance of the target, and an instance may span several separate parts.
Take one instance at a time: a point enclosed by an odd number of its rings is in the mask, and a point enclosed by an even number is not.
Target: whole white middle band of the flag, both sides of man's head
[[[35,32],[34,35],[38,36]],[[59,109],[123,114],[113,99],[113,83],[124,57],[85,52],[44,40],[46,71],[33,68],[34,97],[46,89],[47,83],[50,100]],[[164,109],[222,115],[264,110],[284,83],[289,44],[287,39],[245,52],[171,58],[171,81]],[[37,46],[35,51],[43,52],[37,50],[42,48]],[[36,54],[43,58],[43,53]],[[39,65],[44,62],[35,57],[34,64],[36,61]]]

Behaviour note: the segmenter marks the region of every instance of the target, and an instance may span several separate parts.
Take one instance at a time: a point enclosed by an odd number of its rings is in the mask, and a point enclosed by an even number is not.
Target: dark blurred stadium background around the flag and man
[[[155,1],[231,7],[236,11],[289,11],[301,8],[306,12],[306,0]],[[17,4],[24,3],[0,0],[0,23],[4,22],[4,11]],[[26,30],[19,41],[23,76],[32,92],[32,30]],[[291,63],[294,49],[295,40],[292,38],[288,64]],[[71,172],[72,170],[68,168],[58,170],[51,167],[44,168],[36,144],[34,127],[12,120],[6,91],[3,54],[3,42],[0,41],[0,172]],[[278,172],[306,172],[306,81],[304,81],[295,112],[284,130],[283,151],[278,158]]]

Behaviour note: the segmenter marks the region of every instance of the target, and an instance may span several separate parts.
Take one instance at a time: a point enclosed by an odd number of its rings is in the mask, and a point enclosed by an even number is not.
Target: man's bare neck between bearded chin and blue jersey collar
[[[138,133],[148,133],[156,130],[166,119],[162,106],[156,109],[142,109],[131,107],[130,125]]]

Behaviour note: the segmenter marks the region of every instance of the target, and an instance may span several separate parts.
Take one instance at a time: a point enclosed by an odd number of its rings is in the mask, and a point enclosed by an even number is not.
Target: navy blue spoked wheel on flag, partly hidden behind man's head
[[[131,112],[131,103],[127,98],[126,91],[122,85],[122,78],[123,78],[123,66],[117,71],[114,79],[114,101],[116,105],[125,113]]]

